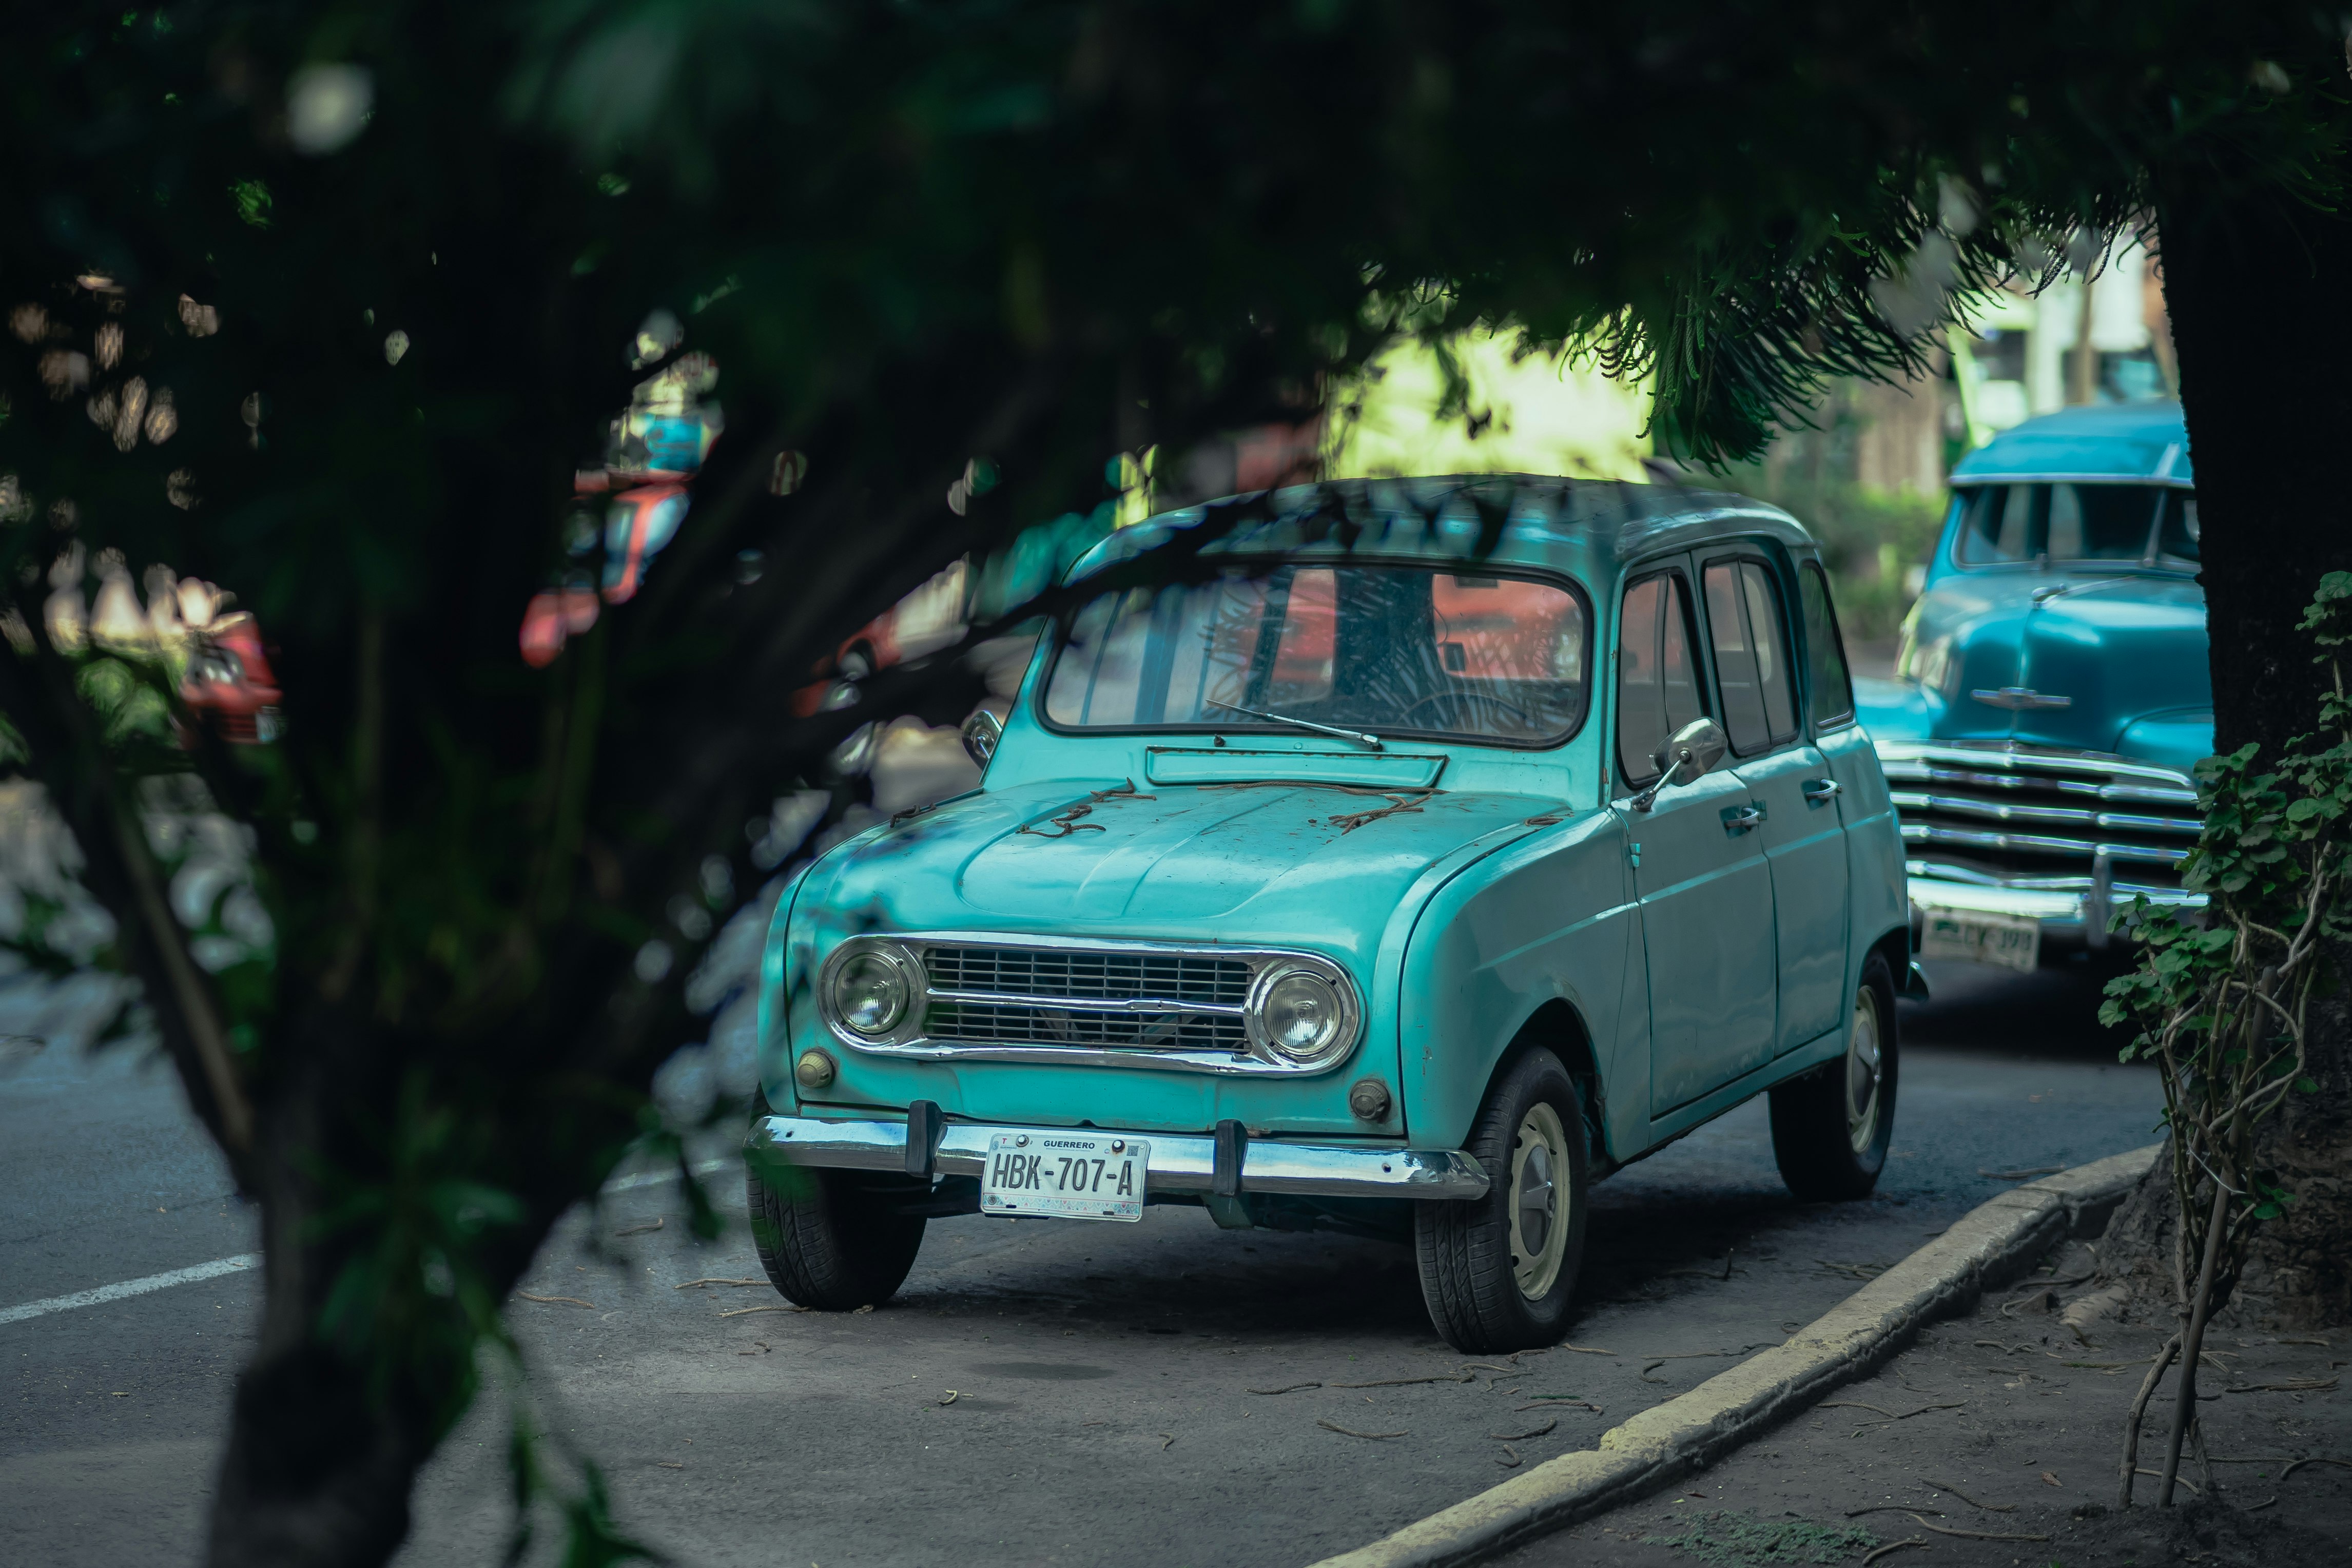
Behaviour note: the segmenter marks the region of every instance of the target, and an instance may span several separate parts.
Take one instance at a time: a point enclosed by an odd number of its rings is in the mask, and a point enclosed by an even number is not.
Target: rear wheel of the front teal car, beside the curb
[[[1863,1030],[1877,1039],[1875,1084]],[[1896,1039],[1896,983],[1886,959],[1870,954],[1846,1011],[1846,1051],[1837,1060],[1771,1091],[1771,1152],[1780,1180],[1809,1204],[1851,1204],[1870,1197],[1886,1168],[1896,1131],[1896,1079],[1903,1053]],[[1858,1100],[1870,1091],[1870,1105]],[[1849,1105],[1849,1095],[1856,1105]],[[1863,1119],[1867,1117],[1867,1128]]]

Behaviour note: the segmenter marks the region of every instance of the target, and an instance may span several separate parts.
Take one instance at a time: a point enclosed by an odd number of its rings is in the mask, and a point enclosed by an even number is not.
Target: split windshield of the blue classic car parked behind
[[[2164,484],[1976,484],[1952,498],[1962,567],[2197,564],[2197,496]]]

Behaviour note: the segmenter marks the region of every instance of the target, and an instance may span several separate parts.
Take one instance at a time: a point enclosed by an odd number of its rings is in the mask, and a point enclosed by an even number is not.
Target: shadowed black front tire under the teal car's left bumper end
[[[922,1248],[924,1182],[877,1171],[750,1171],[750,1239],[783,1295],[818,1312],[887,1302]],[[774,1182],[774,1185],[769,1185]]]

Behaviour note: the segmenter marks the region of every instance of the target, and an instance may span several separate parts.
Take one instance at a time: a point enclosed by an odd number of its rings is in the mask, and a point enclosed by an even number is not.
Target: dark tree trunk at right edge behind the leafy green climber
[[[2345,158],[2352,169],[2352,158]],[[2326,571],[2352,569],[2352,221],[2244,195],[2232,169],[2164,169],[2157,216],[2180,400],[2197,465],[2216,750],[2277,757],[2319,717],[2321,670],[2296,625]],[[2347,957],[2338,973],[2352,978]],[[2296,1194],[2258,1232],[2244,1309],[2279,1326],[2352,1321],[2352,1020],[2312,1032],[2317,1095],[2288,1095],[2256,1159]],[[2171,1293],[2159,1161],[2112,1229],[2110,1265]]]

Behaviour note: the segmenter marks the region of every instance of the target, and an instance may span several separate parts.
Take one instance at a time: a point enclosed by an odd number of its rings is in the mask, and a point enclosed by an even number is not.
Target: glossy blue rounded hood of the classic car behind
[[[1943,578],[1915,609],[1903,672],[1917,696],[1870,703],[1879,738],[2136,755],[2140,731],[2211,729],[2204,590],[2178,576]]]

